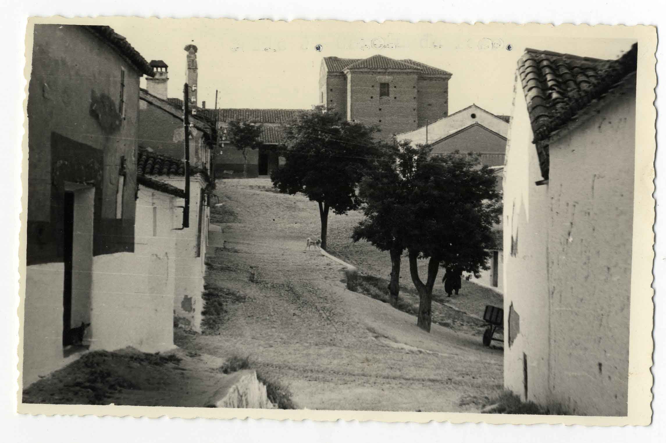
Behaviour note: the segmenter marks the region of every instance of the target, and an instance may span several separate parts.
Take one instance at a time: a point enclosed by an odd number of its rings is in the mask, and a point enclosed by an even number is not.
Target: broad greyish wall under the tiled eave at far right
[[[551,389],[585,414],[625,415],[635,90],[550,145]]]

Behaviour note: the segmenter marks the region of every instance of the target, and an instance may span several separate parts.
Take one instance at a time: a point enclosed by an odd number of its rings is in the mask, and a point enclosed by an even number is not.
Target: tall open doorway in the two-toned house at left
[[[89,347],[93,278],[95,189],[65,184],[63,200],[63,349],[65,356]]]

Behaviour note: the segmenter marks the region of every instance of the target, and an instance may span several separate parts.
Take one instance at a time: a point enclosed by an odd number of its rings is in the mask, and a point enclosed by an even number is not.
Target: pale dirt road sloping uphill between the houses
[[[211,222],[225,247],[209,251],[206,280],[236,296],[218,335],[177,334],[179,346],[249,355],[308,409],[474,411],[500,390],[501,350],[435,324],[418,329],[414,316],[346,290],[339,264],[304,250],[318,238],[316,203],[275,193],[267,179],[220,181],[218,195]],[[329,226],[344,217],[331,214]]]

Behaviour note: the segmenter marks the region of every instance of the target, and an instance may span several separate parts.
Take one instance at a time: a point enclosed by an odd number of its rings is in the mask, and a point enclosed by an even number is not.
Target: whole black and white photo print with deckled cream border
[[[656,40],[30,19],[19,412],[649,424]]]

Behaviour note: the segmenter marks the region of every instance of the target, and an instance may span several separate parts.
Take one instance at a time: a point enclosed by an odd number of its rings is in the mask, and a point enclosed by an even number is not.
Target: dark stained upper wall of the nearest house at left
[[[35,25],[33,65],[28,93],[28,264],[61,259],[56,226],[62,207],[60,180],[81,183],[90,171],[52,157],[53,133],[99,153],[99,211],[96,254],[131,250],[135,205],[135,159],[139,73],[117,52],[81,26]],[[121,71],[125,70],[124,116],[117,117]],[[67,75],[61,75],[67,73]],[[115,109],[107,112],[105,103]],[[95,105],[95,109],[91,109]],[[101,113],[101,114],[100,114]],[[65,155],[67,155],[65,150]],[[121,157],[127,162],[123,215],[116,219]],[[90,157],[89,161],[93,161]],[[53,162],[59,175],[51,175]],[[77,179],[77,177],[79,177]],[[86,176],[85,180],[91,180]],[[53,185],[52,185],[53,183]],[[51,250],[53,248],[53,250]]]

